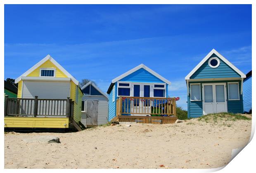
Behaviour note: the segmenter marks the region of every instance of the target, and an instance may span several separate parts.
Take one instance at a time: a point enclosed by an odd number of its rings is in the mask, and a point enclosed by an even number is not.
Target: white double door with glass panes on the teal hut
[[[202,84],[204,115],[228,112],[225,83]]]

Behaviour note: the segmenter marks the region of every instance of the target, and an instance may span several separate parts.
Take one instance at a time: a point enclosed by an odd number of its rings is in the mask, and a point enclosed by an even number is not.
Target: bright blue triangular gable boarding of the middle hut
[[[149,83],[165,83],[161,79],[152,75],[150,72],[145,70],[144,68],[140,68],[139,70],[131,73],[130,75],[120,79],[119,81],[124,82],[149,82]]]

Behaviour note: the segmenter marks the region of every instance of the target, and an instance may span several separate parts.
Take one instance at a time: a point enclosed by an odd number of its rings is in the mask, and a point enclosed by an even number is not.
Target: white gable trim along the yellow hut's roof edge
[[[78,80],[76,80],[69,72],[67,72],[61,65],[59,65],[59,63],[57,63],[57,61],[55,61],[49,54],[47,56],[45,56],[45,58],[43,58],[41,61],[39,61],[38,63],[36,63],[36,65],[34,65],[33,67],[31,67],[29,70],[27,70],[26,72],[24,72],[22,75],[20,75],[17,79],[15,79],[15,84],[17,84],[19,81],[21,81],[21,77],[27,76],[29,75],[31,72],[33,72],[34,70],[36,70],[40,65],[42,65],[43,63],[45,63],[47,60],[50,60],[54,65],[56,65],[57,68],[59,68],[59,70],[61,70],[67,77],[71,78],[71,80],[78,85],[79,82]]]

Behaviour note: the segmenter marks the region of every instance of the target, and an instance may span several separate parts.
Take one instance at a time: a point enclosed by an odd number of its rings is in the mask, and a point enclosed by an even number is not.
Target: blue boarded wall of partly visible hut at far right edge
[[[243,84],[243,101],[245,112],[250,112],[251,110],[251,79],[251,76],[247,77],[246,79],[244,79]]]

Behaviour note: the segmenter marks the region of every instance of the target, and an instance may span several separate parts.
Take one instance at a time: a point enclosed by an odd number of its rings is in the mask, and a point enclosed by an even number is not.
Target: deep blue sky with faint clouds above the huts
[[[213,48],[251,70],[251,5],[5,5],[5,79],[50,54],[106,92],[144,63],[187,109],[185,76]]]

